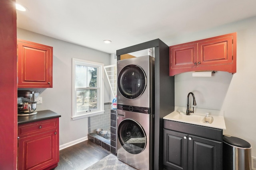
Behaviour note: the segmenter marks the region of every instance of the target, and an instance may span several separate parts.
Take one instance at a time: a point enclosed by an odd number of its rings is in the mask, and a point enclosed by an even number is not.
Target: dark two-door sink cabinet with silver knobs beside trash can
[[[167,170],[222,170],[222,129],[164,120]]]

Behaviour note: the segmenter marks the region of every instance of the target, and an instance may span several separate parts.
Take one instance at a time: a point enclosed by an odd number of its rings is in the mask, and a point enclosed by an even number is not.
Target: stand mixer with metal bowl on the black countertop
[[[29,116],[37,114],[36,102],[31,102],[34,92],[30,90],[18,90],[18,100],[19,97],[28,98],[29,102],[22,100],[22,103],[18,102],[18,116]]]

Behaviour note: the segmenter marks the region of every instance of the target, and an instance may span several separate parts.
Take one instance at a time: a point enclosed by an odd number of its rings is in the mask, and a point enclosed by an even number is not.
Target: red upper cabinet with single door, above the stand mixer
[[[53,48],[18,39],[18,88],[52,88]]]

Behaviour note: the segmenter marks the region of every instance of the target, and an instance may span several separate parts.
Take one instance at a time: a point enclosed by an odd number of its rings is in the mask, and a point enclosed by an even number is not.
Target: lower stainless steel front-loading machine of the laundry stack
[[[153,168],[154,115],[117,109],[117,157],[139,170]]]

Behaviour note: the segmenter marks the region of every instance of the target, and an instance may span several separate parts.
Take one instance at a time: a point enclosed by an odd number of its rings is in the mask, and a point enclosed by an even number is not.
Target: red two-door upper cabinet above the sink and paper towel
[[[170,46],[170,76],[216,70],[236,73],[236,33]]]

